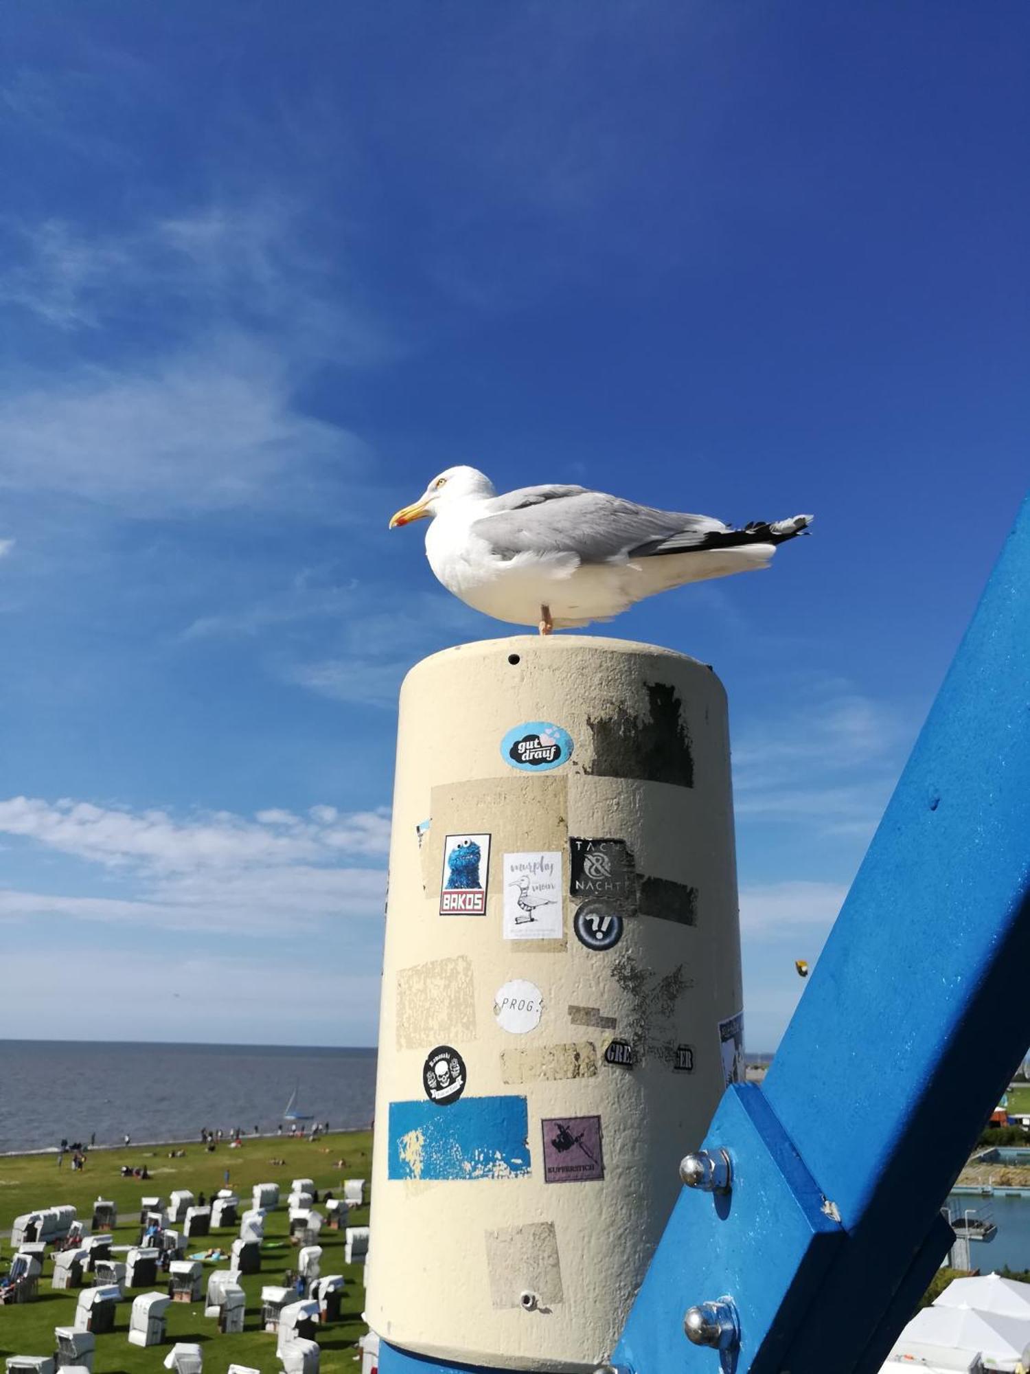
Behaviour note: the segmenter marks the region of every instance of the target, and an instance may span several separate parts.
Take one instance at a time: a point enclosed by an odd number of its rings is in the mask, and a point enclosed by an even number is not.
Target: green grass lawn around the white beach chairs
[[[260,1330],[261,1287],[266,1283],[282,1283],[287,1268],[294,1267],[297,1250],[287,1238],[288,1219],[286,1195],[294,1178],[314,1179],[319,1195],[331,1189],[335,1197],[343,1194],[345,1178],[365,1179],[365,1206],[350,1213],[352,1226],[368,1224],[368,1194],[371,1182],[371,1135],[365,1132],[334,1134],[323,1136],[314,1145],[309,1140],[244,1140],[242,1149],[229,1150],[218,1146],[207,1154],[201,1145],[185,1145],[185,1157],[168,1158],[170,1146],[140,1150],[102,1150],[88,1157],[87,1167],[80,1173],[69,1168],[66,1157],[63,1168],[58,1169],[55,1156],[14,1156],[0,1158],[0,1252],[4,1272],[12,1254],[11,1223],[23,1212],[43,1206],[73,1204],[78,1216],[92,1217],[93,1200],[111,1198],[119,1216],[139,1216],[140,1198],[161,1194],[168,1202],[173,1189],[190,1189],[194,1194],[205,1193],[207,1198],[225,1187],[224,1171],[229,1171],[228,1186],[240,1197],[240,1210],[250,1205],[250,1190],[254,1183],[277,1183],[282,1194],[280,1206],[265,1220],[265,1241],[261,1246],[261,1272],[243,1275],[240,1283],[247,1294],[244,1329],[236,1336],[220,1336],[214,1318],[203,1315],[203,1301],[198,1304],[173,1303],[168,1309],[168,1342],[161,1347],[141,1349],[129,1345],[129,1312],[136,1293],[163,1289],[168,1279],[162,1276],[152,1286],[129,1289],[126,1301],[118,1304],[115,1329],[96,1338],[95,1374],[161,1374],[162,1362],[174,1341],[199,1341],[203,1345],[205,1374],[225,1374],[229,1364],[251,1364],[265,1374],[280,1369],[275,1355],[276,1337]],[[345,1168],[335,1168],[338,1160],[345,1160]],[[284,1160],[273,1165],[272,1160]],[[122,1179],[119,1168],[147,1165],[152,1175],[146,1183],[136,1179]],[[320,1208],[321,1210],[321,1208]],[[211,1231],[188,1249],[203,1250],[224,1243],[228,1252],[239,1227]],[[122,1226],[114,1232],[115,1245],[135,1245],[139,1226]],[[356,1374],[360,1363],[357,1340],[364,1334],[361,1322],[364,1289],[361,1286],[361,1265],[343,1264],[343,1232],[323,1227],[319,1243],[323,1248],[321,1272],[343,1274],[346,1289],[341,1319],[319,1327],[317,1340],[321,1347],[323,1374]],[[217,1264],[205,1264],[203,1290],[207,1289],[207,1275],[216,1268],[228,1268],[228,1259]],[[48,1259],[40,1281],[40,1296],[34,1303],[0,1307],[0,1359],[7,1355],[52,1355],[55,1349],[54,1327],[71,1326],[78,1300],[77,1290],[54,1292],[51,1276],[52,1261]],[[0,1367],[3,1367],[0,1364]]]

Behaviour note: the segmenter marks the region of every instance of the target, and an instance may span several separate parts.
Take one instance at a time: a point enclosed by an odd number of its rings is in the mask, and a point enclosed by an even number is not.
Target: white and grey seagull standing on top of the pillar
[[[549,635],[611,620],[684,583],[766,567],[776,545],[812,518],[733,529],[586,486],[520,486],[499,496],[475,467],[448,467],[397,511],[390,529],[431,519],[426,556],[449,592],[494,620]]]

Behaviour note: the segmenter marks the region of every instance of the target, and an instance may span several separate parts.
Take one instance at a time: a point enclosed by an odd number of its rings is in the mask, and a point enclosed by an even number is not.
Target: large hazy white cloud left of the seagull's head
[[[129,515],[317,508],[365,445],[295,405],[282,361],[240,338],[150,368],[84,368],[0,397],[0,489]]]

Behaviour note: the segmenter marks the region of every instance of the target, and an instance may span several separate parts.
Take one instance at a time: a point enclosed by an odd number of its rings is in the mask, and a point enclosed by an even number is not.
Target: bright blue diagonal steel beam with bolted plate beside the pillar
[[[764,1087],[705,1140],[613,1363],[632,1374],[875,1374],[952,1243],[939,1206],[1030,1044],[1030,500]],[[603,1237],[597,1238],[603,1243]],[[691,1345],[732,1298],[736,1347]],[[382,1374],[461,1374],[386,1341]]]

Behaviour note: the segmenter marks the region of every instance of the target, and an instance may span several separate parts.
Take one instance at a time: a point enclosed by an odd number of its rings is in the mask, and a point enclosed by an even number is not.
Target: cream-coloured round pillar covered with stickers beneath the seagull
[[[401,690],[367,1316],[593,1369],[743,1076],[726,703],[615,639],[445,650]]]

